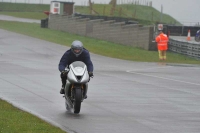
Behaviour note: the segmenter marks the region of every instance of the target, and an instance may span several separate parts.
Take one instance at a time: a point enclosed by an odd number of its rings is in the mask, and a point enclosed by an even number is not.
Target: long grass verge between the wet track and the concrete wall
[[[92,53],[113,58],[141,62],[158,62],[157,51],[146,51],[131,46],[124,46],[103,40],[79,36],[57,30],[51,30],[48,28],[40,28],[39,24],[0,21],[0,28],[66,46],[70,46],[74,40],[80,40],[83,42],[85,48],[87,48]],[[200,64],[199,60],[170,52],[167,53],[166,62]]]

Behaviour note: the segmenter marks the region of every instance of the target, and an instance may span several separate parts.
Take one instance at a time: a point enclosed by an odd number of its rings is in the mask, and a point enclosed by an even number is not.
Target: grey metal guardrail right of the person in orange
[[[168,45],[168,49],[170,51],[200,60],[200,44],[197,42],[189,42],[170,38]]]

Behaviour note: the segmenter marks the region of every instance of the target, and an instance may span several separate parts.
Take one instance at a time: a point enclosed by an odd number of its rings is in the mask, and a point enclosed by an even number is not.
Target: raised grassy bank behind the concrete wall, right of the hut
[[[111,16],[110,14],[111,8],[112,8],[111,5],[105,5],[105,4],[93,5],[93,9],[99,13],[98,15]],[[90,14],[89,7],[87,6],[76,6],[75,11],[84,14]],[[153,7],[143,6],[143,5],[134,5],[134,4],[117,5],[116,10],[113,13],[113,16],[133,18],[134,20],[140,22],[141,24],[154,24],[160,22],[160,12]],[[167,24],[176,23],[180,25],[180,23],[176,19],[167,14],[163,14],[162,22]]]

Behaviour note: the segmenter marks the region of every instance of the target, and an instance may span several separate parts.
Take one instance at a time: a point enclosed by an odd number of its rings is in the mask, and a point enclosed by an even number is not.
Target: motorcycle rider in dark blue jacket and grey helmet
[[[68,74],[68,71],[66,71],[65,68],[69,67],[69,65],[74,61],[84,62],[87,66],[89,77],[93,77],[93,63],[90,59],[89,51],[83,47],[83,43],[81,41],[73,41],[71,44],[71,48],[64,53],[58,65],[58,69],[61,72],[60,77],[62,81],[60,94],[65,93],[64,87],[66,85]],[[85,98],[87,98],[87,96]]]

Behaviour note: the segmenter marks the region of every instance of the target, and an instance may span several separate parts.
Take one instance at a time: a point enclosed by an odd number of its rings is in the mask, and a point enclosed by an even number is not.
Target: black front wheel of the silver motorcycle
[[[82,90],[77,88],[75,90],[75,101],[74,101],[74,113],[78,114],[81,109],[81,100],[82,100]]]

